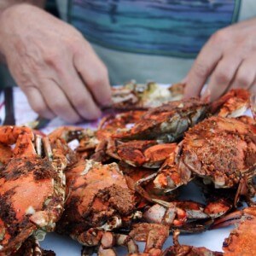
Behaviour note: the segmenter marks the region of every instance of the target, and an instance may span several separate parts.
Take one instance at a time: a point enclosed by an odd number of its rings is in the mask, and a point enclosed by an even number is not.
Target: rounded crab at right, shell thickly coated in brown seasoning
[[[157,188],[175,189],[192,177],[202,177],[215,188],[234,188],[248,198],[255,194],[256,139],[250,126],[238,119],[211,117],[186,132],[176,155],[154,179]]]

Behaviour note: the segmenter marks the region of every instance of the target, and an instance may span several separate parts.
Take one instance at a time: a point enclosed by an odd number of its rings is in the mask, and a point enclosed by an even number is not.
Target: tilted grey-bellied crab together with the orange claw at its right
[[[238,116],[249,107],[247,90],[231,90],[218,101],[209,103],[197,98],[166,103],[151,108],[129,131],[116,132],[113,137],[131,139],[155,139],[172,143],[183,137],[183,133],[205,119],[209,113],[223,117]]]

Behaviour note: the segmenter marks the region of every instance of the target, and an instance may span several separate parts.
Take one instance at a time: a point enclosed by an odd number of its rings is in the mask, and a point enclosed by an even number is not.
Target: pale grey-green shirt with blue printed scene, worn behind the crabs
[[[256,16],[255,0],[57,0],[107,65],[112,84],[174,83],[212,33]]]

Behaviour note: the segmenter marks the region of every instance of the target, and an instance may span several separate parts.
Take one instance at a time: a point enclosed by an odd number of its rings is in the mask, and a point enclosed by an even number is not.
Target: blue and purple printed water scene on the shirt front
[[[237,21],[241,0],[73,0],[68,20],[108,49],[192,58]]]

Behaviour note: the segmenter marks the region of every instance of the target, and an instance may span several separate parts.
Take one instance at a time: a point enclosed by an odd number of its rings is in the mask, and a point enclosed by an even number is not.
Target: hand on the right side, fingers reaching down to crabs
[[[211,101],[226,90],[245,88],[256,93],[256,19],[227,26],[214,33],[201,49],[184,82],[184,96],[199,96],[211,75],[202,97]]]

